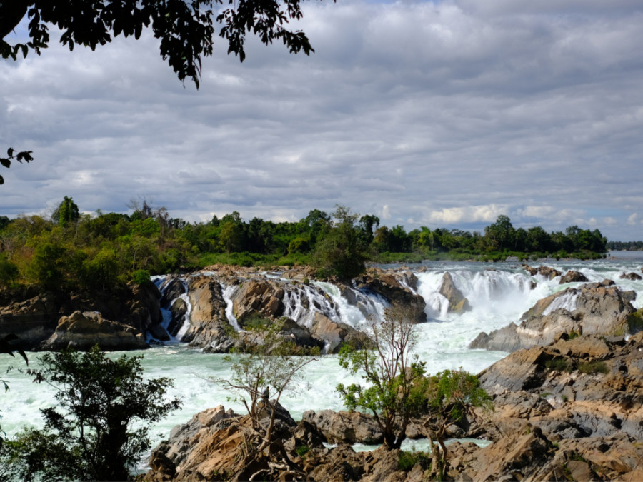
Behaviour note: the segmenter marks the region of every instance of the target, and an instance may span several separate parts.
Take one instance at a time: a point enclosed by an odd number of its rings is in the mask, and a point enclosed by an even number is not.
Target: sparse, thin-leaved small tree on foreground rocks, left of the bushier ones
[[[254,437],[244,463],[249,463],[270,446],[276,446],[287,460],[281,440],[273,434],[277,404],[281,395],[303,382],[303,368],[317,359],[290,356],[294,343],[280,333],[281,326],[282,323],[273,323],[261,333],[257,343],[245,348],[244,353],[226,356],[224,359],[230,363],[231,375],[214,380],[239,396],[251,418]],[[261,423],[263,418],[268,421]]]

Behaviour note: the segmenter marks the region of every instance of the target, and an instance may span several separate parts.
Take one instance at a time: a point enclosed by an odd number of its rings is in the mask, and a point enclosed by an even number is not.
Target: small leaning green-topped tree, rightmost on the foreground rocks
[[[425,389],[429,416],[422,427],[431,445],[432,468],[441,481],[447,466],[447,429],[462,421],[473,407],[491,406],[492,398],[480,387],[477,376],[462,368],[429,376]]]

